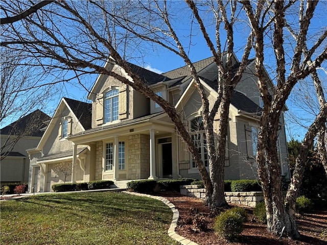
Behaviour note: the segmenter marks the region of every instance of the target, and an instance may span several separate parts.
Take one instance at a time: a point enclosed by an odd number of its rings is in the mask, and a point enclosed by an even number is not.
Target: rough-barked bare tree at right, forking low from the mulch
[[[323,45],[327,31],[323,30],[321,35],[317,35],[316,42],[311,46],[310,50],[307,50],[309,36],[312,35],[309,31],[310,21],[314,16],[317,1],[308,1],[306,6],[304,1],[259,1],[256,6],[250,1],[242,1],[242,3],[255,33],[256,76],[258,77],[258,87],[264,102],[256,160],[267,209],[268,231],[278,236],[286,234],[292,238],[298,238],[299,233],[295,224],[296,194],[303,176],[305,159],[314,142],[314,137],[325,123],[327,105],[325,103],[321,104],[319,114],[302,141],[285,203],[281,191],[281,170],[276,148],[278,123],[282,109],[294,86],[301,79],[311,74],[314,76],[316,69],[327,58],[327,48]],[[286,10],[291,5],[299,9],[297,22],[299,24],[297,30],[299,31],[293,44],[295,48],[292,57],[289,51],[288,56],[286,56],[287,44],[283,38],[284,30],[286,27],[290,27]],[[270,16],[273,16],[273,18]],[[267,28],[269,22],[273,22],[271,29]],[[267,34],[272,36],[270,41],[273,44],[273,54],[276,62],[276,90],[274,94],[271,94],[268,89],[268,81],[263,66],[267,52],[264,36]],[[318,48],[320,47],[322,47],[322,50],[319,52]],[[287,63],[288,60],[290,63]],[[288,67],[290,72],[286,70]]]

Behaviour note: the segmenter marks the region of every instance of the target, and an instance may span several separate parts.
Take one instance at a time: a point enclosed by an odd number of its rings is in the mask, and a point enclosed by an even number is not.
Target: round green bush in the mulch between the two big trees
[[[227,210],[216,217],[214,230],[221,237],[230,240],[241,234],[243,229],[243,219],[236,212]]]

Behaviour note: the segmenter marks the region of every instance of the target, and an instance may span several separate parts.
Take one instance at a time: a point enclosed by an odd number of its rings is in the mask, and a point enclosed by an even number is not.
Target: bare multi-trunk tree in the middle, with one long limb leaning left
[[[120,6],[122,4],[124,4],[123,7]],[[192,153],[205,183],[208,202],[211,202],[212,207],[227,205],[223,192],[223,180],[230,97],[233,88],[239,83],[245,70],[252,41],[252,32],[248,28],[247,42],[243,47],[243,54],[241,54],[242,59],[235,71],[233,26],[238,22],[237,15],[242,6],[237,2],[225,6],[221,1],[218,1],[217,4],[186,1],[184,6],[184,11],[188,12],[192,18],[193,28],[197,28],[197,31],[206,41],[219,71],[219,78],[217,79],[218,97],[212,105],[209,103],[206,91],[200,82],[198,71],[188,55],[188,46],[191,40],[185,42],[183,35],[179,35],[173,27],[172,16],[174,13],[172,11],[174,11],[175,6],[171,6],[171,3],[149,1],[148,3],[121,2],[113,4],[111,2],[90,1],[83,2],[81,5],[81,3],[61,1],[47,7],[49,8],[43,8],[32,17],[26,17],[21,21],[22,27],[24,27],[23,38],[21,33],[19,36],[17,35],[18,29],[16,27],[11,27],[12,30],[5,33],[5,40],[2,45],[10,46],[10,48],[18,47],[18,50],[24,47],[39,60],[46,59],[46,62],[40,63],[43,67],[74,70],[75,77],[81,76],[84,72],[97,72],[112,76],[150,97],[169,115],[179,135]],[[11,9],[11,12],[21,12],[20,4],[12,4],[5,8]],[[25,6],[25,8],[27,7]],[[201,8],[204,8],[202,13]],[[209,37],[205,20],[201,16],[202,14],[205,17],[206,11],[213,12],[212,18],[215,21],[216,30],[213,40]],[[99,21],[100,24],[92,24]],[[64,24],[66,27],[72,28],[71,33],[73,35],[63,32]],[[83,27],[82,35],[76,38],[81,27]],[[222,31],[226,38],[221,38],[220,32]],[[16,33],[17,38],[11,36],[13,33]],[[191,33],[192,35],[193,33]],[[173,105],[156,95],[126,62],[126,57],[129,57],[126,46],[128,42],[133,41],[140,43],[146,41],[164,47],[181,57],[185,64],[190,67],[190,73],[201,96],[203,106],[202,114],[208,147],[209,173],[188,129],[183,124],[179,112]],[[112,58],[109,59],[109,62],[123,67],[133,82],[119,74],[105,70],[99,64],[98,61],[105,61],[109,56]],[[48,58],[52,60],[50,65]],[[54,64],[54,61],[57,63]],[[218,109],[220,109],[219,132],[218,136],[215,137],[213,125]]]

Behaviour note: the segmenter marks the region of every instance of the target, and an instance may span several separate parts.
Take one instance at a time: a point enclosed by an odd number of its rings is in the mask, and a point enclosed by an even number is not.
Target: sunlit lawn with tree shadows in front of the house
[[[171,210],[117,192],[45,194],[1,202],[4,244],[177,244]]]

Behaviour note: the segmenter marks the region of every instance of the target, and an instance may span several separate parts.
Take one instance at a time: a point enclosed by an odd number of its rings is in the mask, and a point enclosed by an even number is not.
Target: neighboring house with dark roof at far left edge
[[[28,183],[30,160],[26,150],[37,146],[49,119],[36,110],[0,130],[2,183]]]

